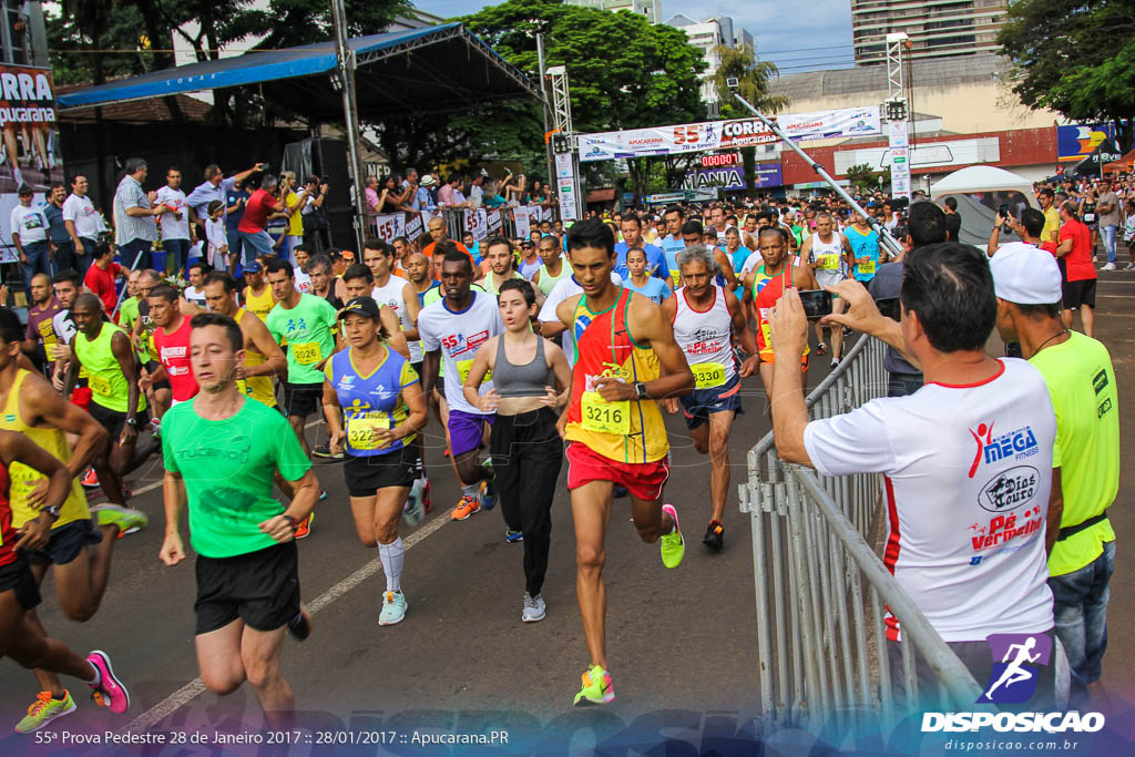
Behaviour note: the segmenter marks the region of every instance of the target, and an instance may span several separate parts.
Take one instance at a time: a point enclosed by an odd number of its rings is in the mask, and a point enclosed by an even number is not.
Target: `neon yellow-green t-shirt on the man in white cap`
[[[1119,401],[1107,347],[1073,331],[1067,342],[1045,347],[1029,360],[1049,385],[1057,414],[1052,466],[1060,469],[1062,527],[1083,523],[1111,506],[1119,491]],[[1057,541],[1049,573],[1063,575],[1103,553],[1116,532],[1107,519]]]

